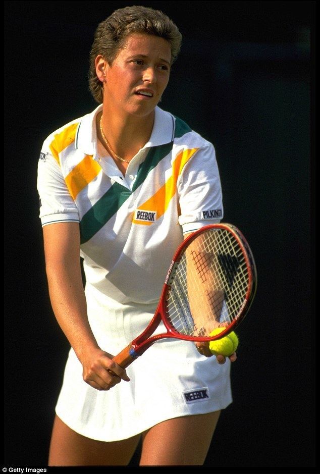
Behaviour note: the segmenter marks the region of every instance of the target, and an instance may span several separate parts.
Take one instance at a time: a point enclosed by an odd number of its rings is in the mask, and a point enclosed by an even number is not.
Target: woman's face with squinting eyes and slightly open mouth
[[[112,66],[104,62],[103,102],[121,114],[148,116],[167,87],[170,64],[166,39],[131,34]]]

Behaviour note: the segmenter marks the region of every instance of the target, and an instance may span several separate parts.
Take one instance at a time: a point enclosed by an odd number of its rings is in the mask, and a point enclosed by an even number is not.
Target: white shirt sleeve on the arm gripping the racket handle
[[[77,206],[71,197],[61,168],[51,153],[42,150],[38,162],[37,189],[42,226],[56,222],[79,222]]]

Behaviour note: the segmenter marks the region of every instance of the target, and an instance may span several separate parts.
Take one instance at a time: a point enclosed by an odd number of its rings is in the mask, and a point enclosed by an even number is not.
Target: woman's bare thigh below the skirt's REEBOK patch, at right
[[[220,411],[182,416],[159,423],[143,434],[141,466],[202,465]]]

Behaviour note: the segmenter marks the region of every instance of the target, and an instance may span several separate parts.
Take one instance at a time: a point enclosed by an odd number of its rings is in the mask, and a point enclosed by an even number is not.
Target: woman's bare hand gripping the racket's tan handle
[[[81,359],[83,380],[97,390],[110,390],[121,380],[130,382],[126,371],[113,360],[113,355],[108,352],[94,349]]]

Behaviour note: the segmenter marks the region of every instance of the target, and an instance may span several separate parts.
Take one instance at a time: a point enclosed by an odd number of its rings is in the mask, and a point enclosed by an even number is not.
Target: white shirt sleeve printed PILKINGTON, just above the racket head
[[[179,224],[183,233],[193,232],[223,218],[222,190],[215,148],[201,146],[185,165],[178,183]]]

